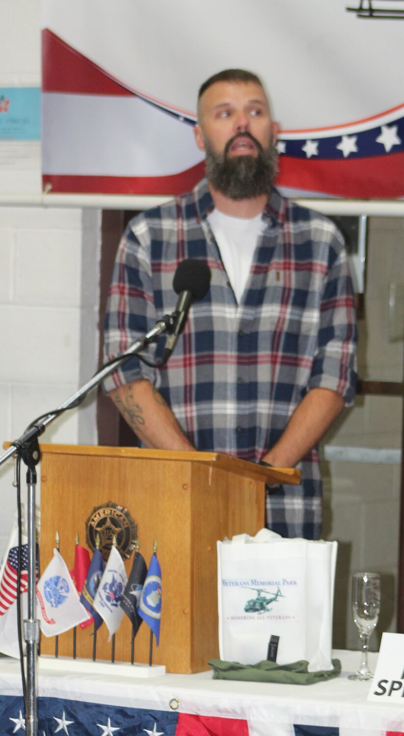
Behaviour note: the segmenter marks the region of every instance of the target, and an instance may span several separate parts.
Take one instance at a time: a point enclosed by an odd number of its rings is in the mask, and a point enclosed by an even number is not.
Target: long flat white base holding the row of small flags
[[[41,654],[38,657],[38,672],[46,675],[51,672],[63,672],[77,675],[120,675],[123,677],[148,678],[161,677],[166,674],[166,665],[149,665],[141,662],[107,662],[104,659],[73,659],[72,657],[51,657]]]

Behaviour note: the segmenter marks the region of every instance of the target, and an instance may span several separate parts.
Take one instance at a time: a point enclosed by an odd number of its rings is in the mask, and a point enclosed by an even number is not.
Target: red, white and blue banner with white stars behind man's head
[[[61,5],[63,10],[65,4],[62,2]],[[286,0],[284,6],[283,11],[272,7],[270,13],[268,4],[258,0],[256,12],[250,14],[252,27],[260,23],[267,24],[269,56],[273,35],[279,30],[278,27],[272,27],[272,18],[274,21],[283,21],[282,13],[286,13],[286,6],[290,6],[290,23],[293,24],[292,6],[297,13],[296,4],[291,0]],[[54,192],[86,194],[165,195],[180,194],[191,188],[204,172],[203,156],[196,147],[192,130],[196,116],[176,104],[174,97],[177,98],[177,93],[172,90],[173,75],[178,88],[182,85],[189,87],[187,66],[198,65],[196,58],[188,59],[180,54],[180,49],[174,43],[176,24],[181,20],[180,15],[176,15],[180,13],[180,7],[176,10],[174,5],[171,6],[172,27],[170,25],[166,28],[166,38],[171,34],[173,43],[166,43],[161,48],[156,43],[152,49],[154,56],[160,56],[161,77],[167,77],[169,81],[166,97],[158,99],[152,93],[152,88],[155,87],[152,71],[150,91],[144,91],[144,87],[141,91],[132,85],[136,77],[135,70],[131,67],[132,56],[135,54],[137,41],[139,46],[141,43],[137,36],[136,18],[132,11],[129,12],[126,0],[118,0],[114,4],[114,15],[121,13],[122,16],[121,25],[118,26],[120,32],[122,33],[125,13],[127,22],[133,24],[134,47],[133,50],[127,48],[128,71],[122,77],[117,74],[122,73],[121,48],[116,49],[116,57],[111,51],[114,43],[120,44],[120,35],[114,37],[111,31],[110,35],[104,37],[107,52],[104,54],[104,62],[99,63],[103,57],[102,42],[100,40],[97,46],[94,40],[99,24],[94,24],[87,30],[87,40],[82,29],[78,34],[74,32],[74,13],[71,14],[73,19],[65,21],[63,29],[63,24],[54,19],[49,0],[44,0],[43,7],[43,186],[52,188]],[[84,9],[88,10],[90,7],[93,7],[93,2],[86,0]],[[404,89],[400,74],[397,76],[395,68],[397,49],[394,51],[394,38],[397,33],[395,27],[391,29],[393,21],[387,24],[389,29],[380,21],[383,27],[379,25],[379,36],[376,37],[380,39],[379,47],[367,47],[366,33],[369,34],[369,41],[375,38],[374,27],[370,29],[372,24],[361,24],[357,18],[345,13],[344,3],[330,0],[330,20],[331,16],[338,17],[341,27],[330,25],[329,38],[326,37],[322,41],[323,48],[315,52],[313,43],[319,39],[316,28],[313,27],[313,11],[317,10],[321,26],[324,24],[324,4],[313,0],[310,9],[306,4],[305,7],[308,21],[301,28],[301,46],[295,43],[294,49],[291,48],[293,29],[290,38],[285,36],[284,45],[286,49],[289,46],[291,60],[284,59],[282,63],[278,63],[277,68],[267,71],[265,54],[262,59],[261,76],[264,81],[268,78],[269,88],[272,89],[272,77],[277,79],[279,75],[284,75],[283,96],[290,97],[290,107],[285,113],[286,126],[281,125],[278,140],[280,171],[277,184],[287,193],[308,196],[365,199],[404,197]],[[100,1],[97,8],[99,23],[107,23],[105,4]],[[138,4],[138,10],[139,13],[145,10],[143,2]],[[336,15],[337,11],[339,15]],[[84,10],[80,12],[84,13]],[[78,24],[80,13],[77,15]],[[63,17],[63,13],[61,16]],[[160,38],[162,22],[163,18],[155,18],[156,33],[160,32]],[[229,17],[228,22],[231,26],[232,18]],[[223,18],[218,18],[218,23],[223,23]],[[360,27],[354,26],[355,23]],[[335,53],[331,58],[329,52],[330,49],[336,49],[339,43],[346,43],[348,31],[355,32],[355,29],[358,58],[352,57],[351,47],[344,46],[347,49],[347,65],[344,68],[344,54]],[[287,26],[281,30],[286,33]],[[125,38],[126,43],[128,38],[130,30]],[[243,29],[240,29],[239,43],[243,38]],[[209,64],[205,64],[205,73],[200,73],[199,82],[212,71],[224,66],[233,64],[248,68],[244,54],[239,51],[234,53],[234,49],[232,51],[227,36],[222,40],[230,51],[227,64],[220,64],[218,59],[215,68],[211,68],[212,61],[209,61]],[[367,49],[367,57],[364,48]],[[311,79],[300,79],[302,71],[305,70],[307,75],[308,69],[308,61],[302,56],[302,52],[308,54],[307,58],[314,54],[318,63],[324,66],[323,82],[325,85],[328,83],[330,88],[327,98],[322,96],[319,99],[320,90],[316,91],[311,85]],[[208,49],[205,53],[208,57]],[[368,76],[375,57],[378,56],[383,58],[386,65],[378,80],[379,87]],[[144,67],[149,63],[150,59],[146,57]],[[155,59],[154,64],[156,65]],[[334,64],[337,68],[333,68]],[[289,68],[294,69],[296,79],[290,77]],[[315,74],[318,74],[318,70],[316,73],[313,71],[313,79]],[[139,77],[144,85],[143,66]],[[362,81],[360,88],[358,77]],[[300,109],[302,99],[297,96],[297,85],[301,88],[302,83],[307,83],[303,98],[307,107],[305,111]],[[339,87],[344,88],[343,94]],[[197,85],[188,94],[195,97],[196,88]],[[170,99],[171,93],[173,99]],[[334,98],[338,95],[341,97],[341,111],[338,124],[333,125],[333,116],[337,114]],[[363,98],[360,105],[358,97],[360,100]],[[299,110],[294,110],[294,99],[300,101]],[[389,107],[386,107],[386,100],[392,102]],[[363,111],[363,116],[361,119],[353,118],[352,121],[351,115],[357,113],[358,109]],[[307,121],[308,126],[297,129],[293,127],[294,121]],[[326,125],[323,124],[324,121],[327,121]]]

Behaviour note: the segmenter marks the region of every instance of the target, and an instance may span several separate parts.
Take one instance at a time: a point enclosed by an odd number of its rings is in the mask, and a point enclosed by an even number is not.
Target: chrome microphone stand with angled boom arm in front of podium
[[[36,575],[36,539],[35,539],[35,490],[37,474],[35,466],[40,461],[40,449],[38,437],[43,434],[47,425],[51,424],[56,417],[68,408],[74,408],[85,398],[91,389],[95,388],[113,373],[116,368],[144,350],[147,345],[155,341],[163,333],[171,334],[174,330],[177,311],[163,316],[156,322],[145,336],[136,340],[124,353],[117,355],[113,361],[102,366],[88,383],[85,383],[73,396],[66,400],[54,411],[40,418],[38,423],[29,426],[18,439],[11,443],[8,450],[0,456],[0,466],[15,453],[20,453],[24,463],[28,467],[26,471],[27,485],[27,537],[28,537],[28,618],[24,619],[24,640],[26,643],[26,703],[25,707],[25,729],[26,736],[38,736],[38,642],[39,642],[39,620],[35,619],[35,575]],[[169,357],[169,356],[167,356]],[[162,361],[160,363],[163,364]],[[20,595],[18,591],[17,595]]]

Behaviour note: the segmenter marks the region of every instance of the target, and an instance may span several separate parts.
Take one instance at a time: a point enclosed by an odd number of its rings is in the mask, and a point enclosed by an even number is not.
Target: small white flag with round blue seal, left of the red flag
[[[56,549],[53,554],[37,585],[40,630],[46,637],[63,634],[88,618],[63,557]]]

